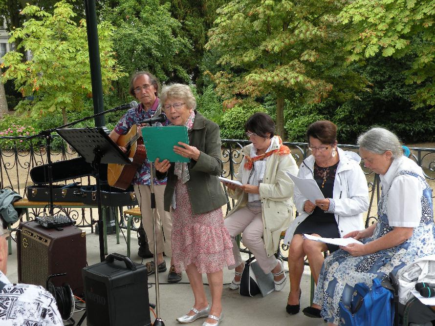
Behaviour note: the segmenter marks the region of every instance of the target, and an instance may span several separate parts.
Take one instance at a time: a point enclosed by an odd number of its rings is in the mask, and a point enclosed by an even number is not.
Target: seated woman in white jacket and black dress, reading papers
[[[337,126],[327,120],[312,123],[306,133],[312,155],[299,168],[298,177],[314,179],[325,199],[311,203],[296,188],[294,202],[299,216],[290,224],[284,243],[289,243],[288,269],[290,293],[286,311],[300,310],[300,283],[307,256],[311,275],[317,284],[324,261],[323,251],[333,252],[329,245],[303,238],[311,234],[325,238],[341,238],[364,226],[363,212],[369,207],[369,190],[359,165],[361,158],[354,152],[337,147]],[[320,310],[306,307],[305,315],[320,317]]]

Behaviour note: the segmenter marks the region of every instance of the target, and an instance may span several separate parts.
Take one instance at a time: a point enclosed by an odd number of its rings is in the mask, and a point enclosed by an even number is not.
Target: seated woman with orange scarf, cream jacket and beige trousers
[[[281,291],[286,283],[283,262],[274,256],[283,229],[293,218],[293,187],[287,173],[298,174],[298,167],[275,134],[275,123],[262,112],[253,114],[245,122],[246,136],[252,142],[243,147],[244,155],[236,178],[243,185],[225,183],[230,197],[237,204],[225,219],[233,241],[236,275],[230,288],[239,288],[244,268],[236,236],[243,232],[243,245],[253,253],[264,273],[273,273],[275,290]]]

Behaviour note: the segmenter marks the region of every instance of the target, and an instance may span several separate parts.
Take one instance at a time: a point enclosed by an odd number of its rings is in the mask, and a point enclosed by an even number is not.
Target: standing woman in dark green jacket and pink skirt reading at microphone
[[[155,161],[157,176],[168,177],[164,206],[167,211],[172,207],[175,270],[186,270],[195,296],[192,309],[177,321],[192,323],[207,317],[203,326],[219,325],[223,316],[222,269],[234,265],[233,245],[221,208],[227,201],[218,179],[223,167],[219,126],[195,110],[195,97],[187,85],[164,87],[160,99],[171,124],[185,125],[189,133],[189,144],[179,142],[179,146],[174,146],[176,154],[190,158],[189,163]],[[207,274],[211,306],[202,273]]]

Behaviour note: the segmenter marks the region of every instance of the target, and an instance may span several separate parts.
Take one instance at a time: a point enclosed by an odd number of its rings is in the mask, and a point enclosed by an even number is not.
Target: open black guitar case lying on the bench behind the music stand
[[[53,183],[92,176],[93,169],[84,158],[52,163]],[[35,185],[28,186],[27,199],[34,202],[49,201],[48,164],[35,166],[30,170],[30,178]],[[137,205],[133,186],[126,190],[111,187],[107,184],[107,164],[100,164],[101,204],[104,206]],[[53,184],[54,202],[78,202],[97,205],[96,185],[81,186],[80,182]]]

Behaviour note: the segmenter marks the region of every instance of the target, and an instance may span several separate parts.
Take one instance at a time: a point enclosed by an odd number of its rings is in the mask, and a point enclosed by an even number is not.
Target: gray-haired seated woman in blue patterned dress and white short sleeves
[[[340,247],[325,260],[313,307],[331,325],[341,324],[339,303],[350,306],[355,284],[371,286],[435,251],[432,189],[421,167],[403,156],[397,137],[384,128],[370,129],[358,144],[364,165],[380,176],[378,221],[345,236],[361,244]]]

